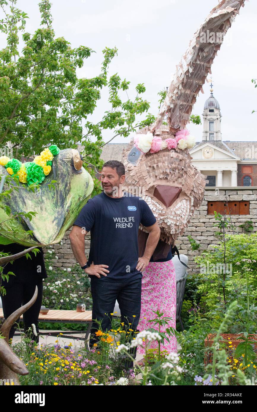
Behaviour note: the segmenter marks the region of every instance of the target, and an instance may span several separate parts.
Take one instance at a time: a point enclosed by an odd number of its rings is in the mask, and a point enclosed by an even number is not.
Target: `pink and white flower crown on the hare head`
[[[134,137],[134,146],[141,152],[157,153],[160,150],[168,148],[181,150],[191,149],[196,144],[196,139],[190,135],[189,130],[179,130],[174,138],[162,140],[160,136],[153,136],[152,133],[137,134]]]

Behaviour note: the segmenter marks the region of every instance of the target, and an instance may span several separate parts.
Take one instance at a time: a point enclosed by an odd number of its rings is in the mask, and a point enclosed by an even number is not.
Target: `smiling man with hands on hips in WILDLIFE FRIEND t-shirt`
[[[125,167],[110,160],[103,166],[104,192],[90,199],[75,220],[69,236],[74,256],[91,278],[93,324],[90,347],[97,342],[95,332],[111,327],[111,313],[118,300],[121,321],[137,328],[141,310],[141,271],[146,268],[160,237],[151,209],[139,197],[124,196]],[[144,255],[138,258],[137,234],[140,223],[149,236]],[[85,256],[85,234],[90,231],[89,258]],[[135,351],[133,353],[135,357]]]

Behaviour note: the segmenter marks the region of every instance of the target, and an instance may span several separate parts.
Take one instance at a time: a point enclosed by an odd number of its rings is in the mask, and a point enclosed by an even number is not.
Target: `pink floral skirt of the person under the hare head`
[[[163,316],[172,318],[168,325],[160,328],[164,332],[166,328],[176,328],[176,276],[172,260],[167,262],[149,262],[149,265],[142,272],[142,297],[141,297],[141,315],[138,324],[140,332],[145,329],[154,328],[158,330],[158,325],[149,322],[150,319],[156,318],[153,311],[163,312]],[[160,350],[167,350],[169,353],[177,352],[177,339],[174,335],[168,336],[164,344],[160,344]],[[158,342],[151,342],[149,348],[157,349]],[[144,349],[137,347],[137,352],[144,354]]]

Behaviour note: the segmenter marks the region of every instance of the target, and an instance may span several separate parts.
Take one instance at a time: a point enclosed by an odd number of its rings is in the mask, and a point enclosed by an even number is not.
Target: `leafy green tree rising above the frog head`
[[[101,167],[104,130],[113,131],[112,138],[127,137],[153,122],[149,114],[138,120],[149,110],[149,102],[141,97],[144,84],[136,86],[136,96],[130,99],[130,82],[118,73],[108,76],[108,67],[117,55],[115,47],[103,50],[98,75],[78,78],[76,70],[94,51],[86,46],[73,49],[64,37],[55,37],[49,0],[39,3],[40,28],[34,34],[27,33],[28,15],[16,2],[0,0],[0,30],[7,42],[0,51],[0,145],[11,142],[14,157],[19,157],[38,155],[49,143],[62,149],[76,148],[82,142],[84,160]],[[19,52],[21,38],[24,47]],[[88,117],[97,107],[103,87],[108,88],[109,110],[94,123]]]

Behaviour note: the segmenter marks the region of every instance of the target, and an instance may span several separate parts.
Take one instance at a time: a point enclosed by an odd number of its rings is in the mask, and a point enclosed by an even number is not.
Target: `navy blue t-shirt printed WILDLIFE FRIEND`
[[[127,281],[142,277],[136,269],[139,225],[147,227],[155,222],[153,212],[140,197],[112,198],[102,192],[87,202],[74,225],[90,231],[89,262],[108,265],[109,273],[101,275],[101,280]]]

